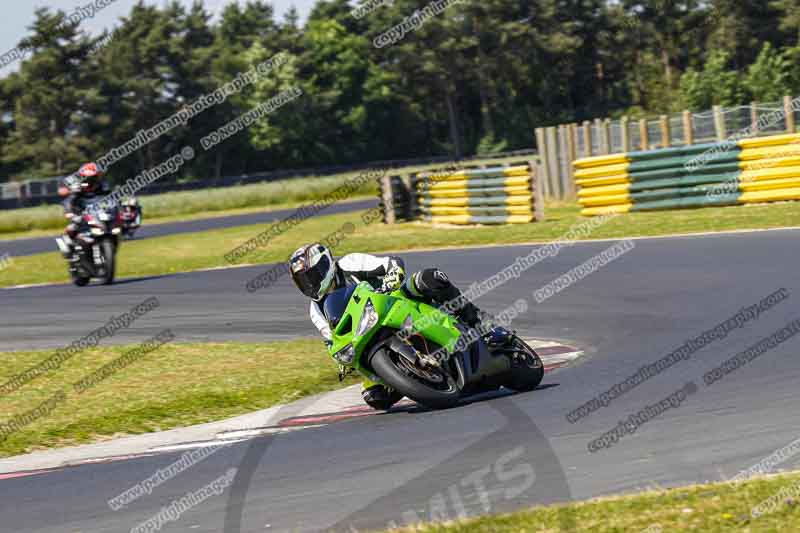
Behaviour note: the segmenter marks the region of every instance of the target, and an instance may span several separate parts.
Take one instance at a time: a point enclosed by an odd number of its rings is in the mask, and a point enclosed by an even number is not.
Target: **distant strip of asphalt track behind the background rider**
[[[354,202],[336,202],[320,212],[320,216],[334,215],[337,213],[347,213],[361,209],[369,209],[378,205],[377,200],[356,200]],[[165,222],[163,224],[148,224],[147,213],[145,220],[139,231],[136,232],[136,239],[151,239],[153,237],[164,237],[179,233],[194,233],[197,231],[207,231],[213,229],[233,228],[235,226],[249,226],[251,224],[263,224],[281,220],[292,213],[293,209],[278,209],[261,213],[247,213],[244,215],[231,215],[225,217],[199,218],[187,220],[186,222]],[[57,232],[53,237],[37,237],[34,239],[14,239],[0,240],[0,254],[8,253],[14,257],[24,255],[41,254],[44,252],[57,252],[58,248],[54,242]]]

